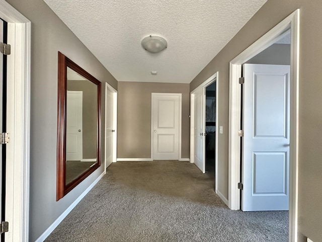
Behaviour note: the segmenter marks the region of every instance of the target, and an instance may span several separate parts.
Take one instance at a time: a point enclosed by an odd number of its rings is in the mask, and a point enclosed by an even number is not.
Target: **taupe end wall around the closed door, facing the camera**
[[[189,84],[119,82],[117,158],[151,157],[151,93],[182,93],[182,158],[189,157]]]

